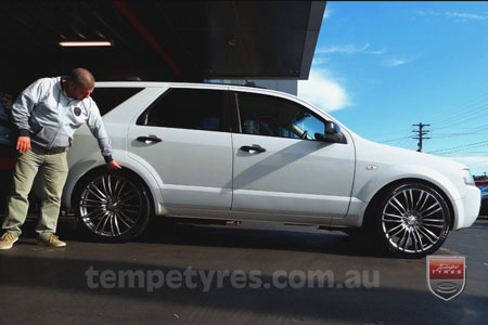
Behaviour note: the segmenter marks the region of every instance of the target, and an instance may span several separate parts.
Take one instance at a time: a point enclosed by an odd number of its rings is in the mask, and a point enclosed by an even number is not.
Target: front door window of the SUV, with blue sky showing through
[[[311,110],[288,100],[254,93],[235,93],[245,134],[316,140],[325,122]]]

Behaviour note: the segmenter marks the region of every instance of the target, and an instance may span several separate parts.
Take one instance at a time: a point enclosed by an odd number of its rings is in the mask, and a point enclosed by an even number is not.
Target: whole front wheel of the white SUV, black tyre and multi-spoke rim
[[[422,183],[388,188],[372,213],[369,224],[372,234],[383,248],[397,257],[431,255],[449,234],[451,214],[445,198]]]

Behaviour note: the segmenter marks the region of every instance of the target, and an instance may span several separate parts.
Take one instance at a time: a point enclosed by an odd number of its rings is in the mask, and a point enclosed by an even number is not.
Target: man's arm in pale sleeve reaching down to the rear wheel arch
[[[105,127],[103,126],[102,116],[100,115],[99,107],[90,100],[90,107],[88,107],[88,120],[87,125],[93,136],[99,143],[99,147],[102,152],[102,156],[105,159],[105,164],[111,169],[120,169],[121,167],[117,161],[112,158],[112,145],[108,134],[106,134]]]

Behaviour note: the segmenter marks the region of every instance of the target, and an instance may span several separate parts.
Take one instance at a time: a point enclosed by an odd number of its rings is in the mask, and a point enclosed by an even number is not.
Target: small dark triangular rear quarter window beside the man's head
[[[144,88],[95,88],[91,98],[99,106],[100,114],[104,116]]]

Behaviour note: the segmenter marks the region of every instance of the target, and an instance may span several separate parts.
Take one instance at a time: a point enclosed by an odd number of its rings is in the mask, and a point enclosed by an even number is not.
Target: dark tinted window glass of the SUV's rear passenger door
[[[170,89],[138,119],[138,125],[220,131],[223,95],[221,90]]]

